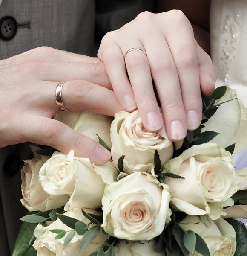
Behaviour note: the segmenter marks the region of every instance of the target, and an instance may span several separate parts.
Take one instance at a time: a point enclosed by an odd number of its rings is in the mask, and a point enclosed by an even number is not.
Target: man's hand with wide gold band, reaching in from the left
[[[109,151],[51,119],[59,112],[55,90],[60,82],[70,111],[113,116],[123,110],[98,58],[39,47],[0,61],[0,147],[30,141],[66,153],[75,149],[79,157],[106,163]]]

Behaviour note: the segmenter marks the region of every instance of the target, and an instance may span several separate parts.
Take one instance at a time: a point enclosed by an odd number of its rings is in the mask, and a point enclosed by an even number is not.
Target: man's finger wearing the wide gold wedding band
[[[49,90],[44,89],[43,93],[47,96],[46,102],[50,102],[46,107],[58,111],[55,102],[57,83],[47,83],[46,87],[49,87]],[[85,80],[65,82],[62,97],[63,105],[69,111],[89,110],[107,116],[124,111],[112,90]]]

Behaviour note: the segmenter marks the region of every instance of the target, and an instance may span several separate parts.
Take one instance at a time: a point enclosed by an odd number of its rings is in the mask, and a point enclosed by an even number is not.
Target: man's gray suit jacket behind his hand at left
[[[155,0],[0,0],[0,19],[13,16],[17,23],[30,22],[30,29],[19,28],[10,41],[0,39],[0,60],[40,46],[95,56],[95,26],[99,43],[106,32],[140,12],[154,12],[155,6]],[[19,219],[26,212],[20,203],[20,171],[7,177],[3,165],[11,154],[23,160],[29,153],[27,144],[0,148],[0,256],[12,254]]]

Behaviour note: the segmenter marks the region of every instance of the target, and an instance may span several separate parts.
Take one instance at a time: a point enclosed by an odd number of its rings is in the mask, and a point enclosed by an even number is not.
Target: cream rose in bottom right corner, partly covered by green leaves
[[[184,231],[192,230],[197,233],[207,244],[211,256],[233,256],[236,250],[236,232],[232,225],[224,221],[223,218],[210,220],[210,227],[204,225],[198,216],[188,215],[181,222],[198,222],[198,224],[180,225]],[[191,256],[192,254],[190,254]],[[201,256],[195,252],[193,256]]]

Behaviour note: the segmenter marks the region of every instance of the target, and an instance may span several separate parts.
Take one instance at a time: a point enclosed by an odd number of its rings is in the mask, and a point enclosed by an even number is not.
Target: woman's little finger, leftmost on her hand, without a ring
[[[115,95],[126,111],[137,108],[135,96],[129,82],[124,56],[116,43],[109,44],[104,49],[100,48],[99,58],[106,67],[106,72],[112,84]]]

